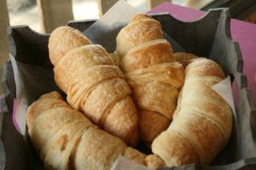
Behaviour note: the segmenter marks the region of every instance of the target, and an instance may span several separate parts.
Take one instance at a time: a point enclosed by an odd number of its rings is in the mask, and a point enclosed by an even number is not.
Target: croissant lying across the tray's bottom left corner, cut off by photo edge
[[[145,156],[96,127],[57,92],[44,94],[32,103],[26,123],[46,169],[108,170],[119,155],[151,169],[165,165],[158,156]]]

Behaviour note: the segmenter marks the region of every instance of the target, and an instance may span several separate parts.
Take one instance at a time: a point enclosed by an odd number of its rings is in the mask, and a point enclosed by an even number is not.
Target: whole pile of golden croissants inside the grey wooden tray
[[[108,170],[119,156],[149,169],[211,163],[232,130],[230,105],[212,90],[222,68],[173,53],[147,14],[137,14],[116,42],[108,54],[71,27],[50,34],[55,83],[67,99],[44,94],[26,114],[45,168]],[[138,143],[152,154],[134,149]]]

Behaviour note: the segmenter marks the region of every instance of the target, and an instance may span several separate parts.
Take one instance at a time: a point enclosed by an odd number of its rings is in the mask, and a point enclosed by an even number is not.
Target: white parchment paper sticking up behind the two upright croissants
[[[124,0],[120,0],[118,3],[115,3],[100,20],[97,20],[96,23],[83,33],[86,37],[89,37],[91,42],[101,44],[107,49],[108,53],[113,53],[116,47],[115,38],[119,31],[138,13],[136,8],[131,7],[131,5]],[[164,38],[171,42],[174,52],[185,51],[185,49],[166,34],[165,31]]]

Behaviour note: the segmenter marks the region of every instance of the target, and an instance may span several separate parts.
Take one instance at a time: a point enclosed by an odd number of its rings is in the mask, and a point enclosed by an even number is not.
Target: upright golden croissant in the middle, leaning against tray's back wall
[[[125,54],[120,67],[137,105],[140,139],[147,144],[169,126],[183,86],[183,65],[173,62],[171,44],[154,38],[163,38],[160,23],[138,14],[119,32],[116,49]]]

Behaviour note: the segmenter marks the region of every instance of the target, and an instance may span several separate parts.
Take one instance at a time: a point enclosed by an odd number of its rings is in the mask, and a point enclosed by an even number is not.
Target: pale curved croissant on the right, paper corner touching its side
[[[209,164],[230,138],[230,105],[212,90],[224,71],[210,59],[192,59],[178,97],[172,124],[152,144],[167,166]]]

